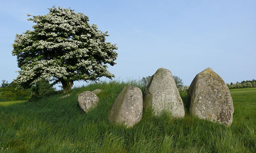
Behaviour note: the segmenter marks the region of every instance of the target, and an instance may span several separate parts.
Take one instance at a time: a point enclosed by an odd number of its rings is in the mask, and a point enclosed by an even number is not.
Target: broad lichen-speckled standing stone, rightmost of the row
[[[198,73],[188,89],[191,114],[212,122],[230,125],[233,118],[233,100],[222,78],[211,68]]]

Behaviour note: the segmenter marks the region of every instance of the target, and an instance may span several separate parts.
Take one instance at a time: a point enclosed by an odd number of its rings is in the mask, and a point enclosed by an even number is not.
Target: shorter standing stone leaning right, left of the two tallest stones
[[[112,123],[132,127],[142,117],[142,92],[138,87],[126,86],[114,101],[109,114]]]

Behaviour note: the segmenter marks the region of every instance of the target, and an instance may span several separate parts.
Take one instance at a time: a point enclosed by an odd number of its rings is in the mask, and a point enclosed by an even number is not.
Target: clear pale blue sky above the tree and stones
[[[207,67],[226,83],[256,79],[256,1],[12,1],[0,2],[0,81],[16,78],[15,34],[32,30],[27,14],[60,6],[89,16],[108,31],[118,58],[110,72],[141,79],[164,67],[190,85]],[[80,86],[84,82],[76,82]]]

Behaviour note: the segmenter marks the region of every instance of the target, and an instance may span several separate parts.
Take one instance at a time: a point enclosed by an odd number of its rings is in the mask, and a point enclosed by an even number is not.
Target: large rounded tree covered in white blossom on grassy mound
[[[33,31],[16,35],[12,50],[20,68],[16,82],[28,88],[46,79],[61,83],[67,92],[74,81],[113,78],[107,64],[116,64],[117,47],[105,42],[108,32],[102,33],[96,24],[88,23],[88,16],[74,10],[53,7],[49,11],[28,19],[36,23]]]

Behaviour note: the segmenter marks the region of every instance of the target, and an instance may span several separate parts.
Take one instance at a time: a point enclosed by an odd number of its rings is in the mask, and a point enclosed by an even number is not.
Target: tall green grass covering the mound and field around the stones
[[[108,121],[113,101],[126,85],[91,84],[64,99],[55,93],[0,106],[0,152],[256,152],[256,88],[230,90],[234,114],[229,127],[187,111],[183,119],[144,111],[142,120],[126,129]],[[78,93],[97,88],[102,89],[98,106],[82,114]],[[186,104],[186,93],[181,96]]]

